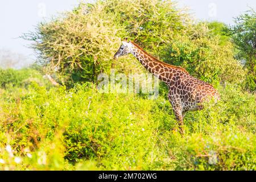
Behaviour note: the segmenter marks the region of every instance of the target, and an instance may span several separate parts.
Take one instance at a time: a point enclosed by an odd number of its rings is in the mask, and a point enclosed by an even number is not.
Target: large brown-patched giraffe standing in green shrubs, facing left
[[[184,134],[183,118],[187,111],[203,109],[203,102],[209,98],[214,98],[216,102],[220,100],[217,90],[212,85],[189,75],[184,68],[156,59],[134,42],[127,42],[127,38],[122,41],[114,59],[129,53],[134,55],[148,72],[168,85],[168,100],[172,105],[182,135]]]

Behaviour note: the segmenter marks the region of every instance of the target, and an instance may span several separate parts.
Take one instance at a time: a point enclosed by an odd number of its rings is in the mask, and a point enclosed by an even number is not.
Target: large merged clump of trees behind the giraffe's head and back
[[[99,73],[109,73],[110,68],[125,74],[143,72],[131,56],[113,60],[125,36],[205,81],[240,82],[245,73],[233,59],[233,47],[218,33],[223,26],[195,24],[172,1],[111,0],[81,3],[72,12],[39,24],[25,38],[34,41],[47,72],[59,68],[55,74],[67,86],[95,82]]]

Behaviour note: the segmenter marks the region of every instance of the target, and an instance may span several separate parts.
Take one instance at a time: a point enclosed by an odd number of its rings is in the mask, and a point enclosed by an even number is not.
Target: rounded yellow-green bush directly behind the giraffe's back
[[[233,58],[231,43],[219,46],[217,37],[201,34],[203,32],[197,32],[197,36],[176,36],[163,53],[163,60],[179,65],[187,69],[191,75],[210,83],[241,83],[246,72]]]

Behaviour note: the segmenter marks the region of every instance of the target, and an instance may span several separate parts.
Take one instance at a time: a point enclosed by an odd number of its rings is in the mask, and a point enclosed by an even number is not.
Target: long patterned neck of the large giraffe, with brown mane
[[[171,82],[174,82],[176,80],[175,78],[177,77],[177,74],[175,73],[179,73],[179,77],[186,77],[189,75],[189,73],[185,71],[185,69],[164,63],[163,61],[159,61],[158,59],[144,51],[137,44],[132,44],[133,48],[131,53],[138,59],[143,67],[146,68],[148,72],[157,76],[160,80],[166,82],[167,84],[171,84]]]

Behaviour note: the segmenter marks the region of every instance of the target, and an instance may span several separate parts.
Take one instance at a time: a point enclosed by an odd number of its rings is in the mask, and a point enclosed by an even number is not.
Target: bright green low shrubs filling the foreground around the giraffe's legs
[[[255,169],[255,95],[218,89],[217,105],[187,114],[184,137],[165,96],[98,93],[89,82],[2,90],[0,168]]]

